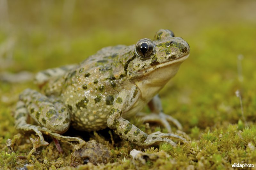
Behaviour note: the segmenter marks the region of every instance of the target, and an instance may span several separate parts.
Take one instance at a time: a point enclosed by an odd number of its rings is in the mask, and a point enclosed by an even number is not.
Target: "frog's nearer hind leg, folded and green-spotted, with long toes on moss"
[[[41,126],[28,124],[28,115]],[[42,133],[63,141],[83,143],[80,138],[60,135],[69,128],[69,110],[61,101],[54,97],[46,97],[36,90],[26,89],[20,94],[14,118],[17,129],[35,131],[42,145],[45,145]]]

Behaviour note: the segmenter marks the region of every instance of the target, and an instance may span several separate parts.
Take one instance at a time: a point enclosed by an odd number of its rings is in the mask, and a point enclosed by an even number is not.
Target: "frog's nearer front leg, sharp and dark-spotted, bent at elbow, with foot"
[[[186,142],[186,139],[174,134],[156,132],[148,135],[147,133],[134,126],[128,120],[122,118],[122,113],[128,111],[131,108],[131,106],[138,99],[138,96],[140,96],[140,90],[137,87],[133,87],[131,90],[123,89],[118,94],[108,117],[109,128],[113,129],[115,133],[124,140],[128,140],[131,143],[142,147],[147,147],[160,142],[167,142],[170,143],[173,147],[176,146],[176,143],[165,137],[176,138],[182,142]]]

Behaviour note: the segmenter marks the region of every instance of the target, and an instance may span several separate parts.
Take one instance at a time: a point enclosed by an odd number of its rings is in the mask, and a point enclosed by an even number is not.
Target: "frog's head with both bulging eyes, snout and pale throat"
[[[155,39],[139,40],[132,61],[127,67],[127,76],[137,85],[163,87],[188,58],[189,45],[172,31],[160,29]],[[141,87],[142,88],[142,87]]]

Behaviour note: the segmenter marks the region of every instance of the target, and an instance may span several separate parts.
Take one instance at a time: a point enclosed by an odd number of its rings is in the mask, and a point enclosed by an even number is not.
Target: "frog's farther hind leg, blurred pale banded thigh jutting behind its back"
[[[40,71],[36,74],[35,76],[35,81],[36,84],[42,85],[45,82],[49,81],[52,79],[52,77],[60,77],[67,73],[68,71],[76,68],[78,65],[66,65],[62,67],[57,67],[57,68],[50,68],[47,70]]]

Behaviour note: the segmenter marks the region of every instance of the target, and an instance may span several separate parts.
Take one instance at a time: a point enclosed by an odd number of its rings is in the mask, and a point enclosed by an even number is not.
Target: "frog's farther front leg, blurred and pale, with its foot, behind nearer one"
[[[152,100],[150,100],[150,102],[148,103],[148,106],[152,113],[150,113],[150,114],[145,114],[145,113],[141,113],[141,112],[138,113],[138,116],[142,116],[143,121],[158,122],[158,123],[162,124],[164,126],[164,128],[167,129],[167,131],[169,133],[172,132],[169,122],[172,122],[173,124],[175,124],[179,130],[182,129],[182,126],[178,120],[174,119],[170,115],[164,114],[161,100],[158,97],[158,95],[156,95],[155,97],[153,97]]]

